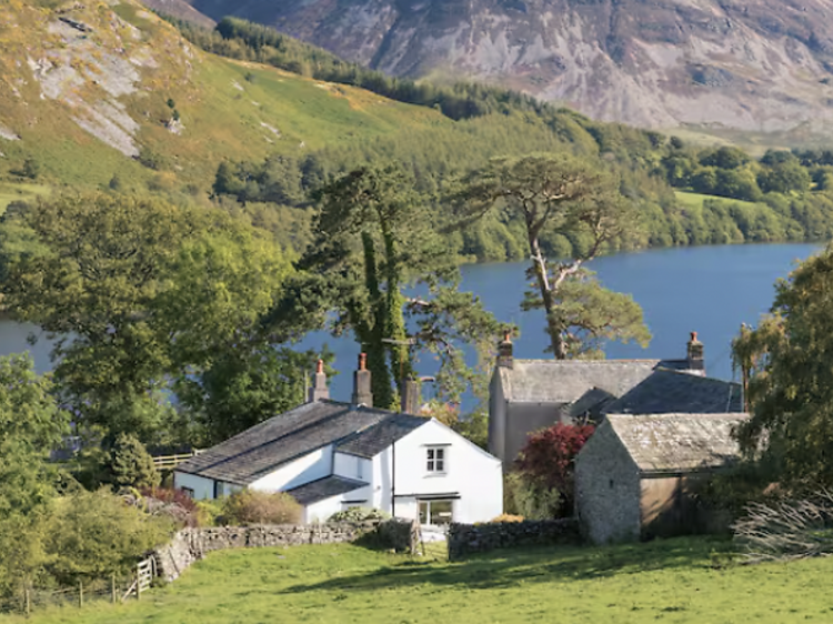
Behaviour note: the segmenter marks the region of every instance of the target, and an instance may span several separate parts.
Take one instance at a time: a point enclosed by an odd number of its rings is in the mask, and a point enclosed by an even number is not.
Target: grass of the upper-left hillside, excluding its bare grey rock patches
[[[137,27],[141,38],[136,40],[129,28],[113,28],[113,13]],[[69,14],[93,27],[82,44],[94,44],[94,54],[122,48],[128,56],[150,51],[158,67],[141,68],[139,90],[119,101],[141,125],[138,145],[160,154],[164,167],[159,172],[142,167],[79,128],[71,104],[41,98],[28,59],[53,58],[72,44],[50,32],[56,24],[50,10],[9,0],[0,6],[0,125],[22,140],[0,138],[0,151],[7,155],[0,159],[0,180],[16,181],[11,172],[31,157],[52,185],[96,187],[118,174],[128,188],[154,180],[161,188],[197,184],[205,190],[223,158],[258,160],[272,152],[302,152],[302,144],[314,149],[451,123],[436,111],[359,89],[205,54],[129,0],[112,8],[92,1]],[[74,59],[72,66],[88,62]],[[91,80],[73,88],[72,95],[91,104],[108,99]],[[184,125],[179,135],[164,127],[171,117],[169,98]],[[279,130],[280,138],[263,124]]]

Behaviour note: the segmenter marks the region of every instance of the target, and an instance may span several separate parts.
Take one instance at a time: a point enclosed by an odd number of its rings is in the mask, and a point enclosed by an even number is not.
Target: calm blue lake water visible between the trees
[[[653,340],[648,349],[611,344],[609,358],[683,358],[689,332],[697,331],[705,345],[710,376],[732,378],[730,342],[742,322],[756,324],[772,305],[773,284],[785,278],[796,261],[822,249],[819,244],[761,244],[678,248],[623,253],[595,260],[591,268],[615,291],[628,292],[642,305]],[[543,356],[546,336],[540,311],[519,309],[525,283],[524,263],[479,264],[463,268],[463,290],[480,295],[498,319],[515,323],[515,354]],[[39,371],[49,370],[49,345],[33,348],[27,335],[37,329],[0,320],[0,354],[31,350]],[[334,399],[349,399],[358,346],[324,333],[309,335],[299,345],[319,349],[324,342],[335,352],[335,368],[343,373],[333,380]],[[424,374],[432,362],[423,361]]]

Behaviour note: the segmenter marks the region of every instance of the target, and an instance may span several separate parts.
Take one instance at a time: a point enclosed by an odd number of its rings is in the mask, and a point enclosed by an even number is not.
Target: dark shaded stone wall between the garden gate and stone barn
[[[449,526],[449,560],[455,561],[473,553],[519,546],[578,544],[581,541],[579,522],[564,520],[524,520],[523,522],[489,522]]]

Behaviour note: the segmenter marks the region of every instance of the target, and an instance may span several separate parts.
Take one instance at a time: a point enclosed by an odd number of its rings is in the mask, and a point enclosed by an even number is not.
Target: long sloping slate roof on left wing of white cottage
[[[307,403],[207,449],[177,471],[249,485],[292,460],[394,416],[399,414],[335,401]]]

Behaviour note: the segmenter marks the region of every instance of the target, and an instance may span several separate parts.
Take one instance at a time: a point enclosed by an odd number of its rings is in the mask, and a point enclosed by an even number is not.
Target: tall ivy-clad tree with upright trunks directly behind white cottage
[[[499,326],[476,298],[456,292],[454,256],[411,175],[397,165],[369,165],[319,197],[315,241],[299,266],[327,276],[340,311],[334,331],[352,330],[368,354],[374,403],[397,406],[394,382],[412,374],[412,348],[438,354],[442,388],[459,394],[451,382],[465,369],[460,342],[491,340]],[[414,282],[425,283],[429,296],[405,301],[402,289]],[[411,334],[405,315],[418,326]]]

